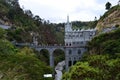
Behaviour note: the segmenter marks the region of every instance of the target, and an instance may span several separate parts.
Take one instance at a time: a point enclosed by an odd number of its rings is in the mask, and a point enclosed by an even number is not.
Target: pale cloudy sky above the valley
[[[116,5],[118,0],[19,0],[21,8],[31,10],[34,15],[51,23],[70,21],[92,21],[104,14],[105,4]]]

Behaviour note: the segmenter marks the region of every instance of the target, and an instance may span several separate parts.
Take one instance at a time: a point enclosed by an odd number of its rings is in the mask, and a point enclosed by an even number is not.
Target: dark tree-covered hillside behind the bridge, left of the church
[[[8,30],[10,41],[32,43],[35,36],[39,44],[63,44],[62,40],[59,41],[60,37],[56,38],[56,28],[59,26],[33,15],[30,10],[21,9],[18,0],[0,0],[0,24],[12,26]],[[59,32],[62,33],[61,29]],[[61,37],[64,37],[63,34]]]

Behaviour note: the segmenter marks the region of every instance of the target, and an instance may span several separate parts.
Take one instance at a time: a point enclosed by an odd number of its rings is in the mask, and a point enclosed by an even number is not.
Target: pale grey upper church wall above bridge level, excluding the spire
[[[65,32],[65,46],[83,46],[95,36],[95,30]]]

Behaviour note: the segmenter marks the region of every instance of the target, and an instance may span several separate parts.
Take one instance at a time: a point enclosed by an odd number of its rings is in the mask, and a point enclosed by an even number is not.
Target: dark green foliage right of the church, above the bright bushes
[[[90,54],[120,53],[120,28],[96,36],[88,46]]]

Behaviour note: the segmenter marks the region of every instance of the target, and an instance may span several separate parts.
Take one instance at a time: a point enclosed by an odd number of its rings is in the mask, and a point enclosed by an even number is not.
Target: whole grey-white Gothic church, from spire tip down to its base
[[[87,50],[87,42],[95,35],[95,29],[73,30],[72,24],[69,22],[69,16],[67,16],[64,36],[66,69],[81,59],[82,54]]]

